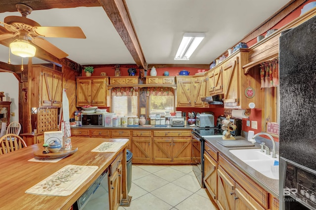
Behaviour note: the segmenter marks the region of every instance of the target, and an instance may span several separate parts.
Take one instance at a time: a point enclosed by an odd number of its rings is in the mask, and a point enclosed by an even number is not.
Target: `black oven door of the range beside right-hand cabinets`
[[[193,172],[197,176],[197,180],[201,187],[204,187],[203,183],[203,151],[204,151],[204,139],[197,133],[192,132],[192,162]]]

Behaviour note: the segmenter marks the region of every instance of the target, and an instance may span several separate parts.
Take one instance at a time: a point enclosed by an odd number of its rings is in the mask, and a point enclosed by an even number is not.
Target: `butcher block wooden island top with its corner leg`
[[[91,186],[108,167],[121,163],[121,204],[129,205],[131,197],[127,195],[126,177],[126,145],[128,139],[103,139],[103,138],[71,138],[73,147],[78,151],[56,163],[30,162],[34,152],[43,149],[41,144],[30,145],[26,148],[0,156],[0,209],[19,210],[68,210],[79,197]],[[118,142],[120,145],[116,152],[91,152],[103,142]],[[119,161],[118,161],[119,158]],[[29,188],[40,181],[61,170],[68,165],[97,166],[98,168],[89,175],[79,187],[68,196],[44,196],[27,194]],[[94,167],[96,168],[96,167]],[[111,193],[110,197],[111,197]],[[111,200],[111,199],[110,199]],[[117,199],[115,199],[117,200]],[[111,209],[117,209],[117,204]]]

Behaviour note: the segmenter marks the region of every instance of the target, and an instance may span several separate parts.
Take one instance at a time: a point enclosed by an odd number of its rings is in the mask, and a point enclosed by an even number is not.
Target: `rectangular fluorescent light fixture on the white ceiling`
[[[174,60],[189,60],[204,37],[204,33],[185,33]]]

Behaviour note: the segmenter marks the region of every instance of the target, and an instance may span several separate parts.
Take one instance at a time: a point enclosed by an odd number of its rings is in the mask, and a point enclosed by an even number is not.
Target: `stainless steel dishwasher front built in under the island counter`
[[[106,169],[74,204],[74,210],[110,210],[109,170]]]

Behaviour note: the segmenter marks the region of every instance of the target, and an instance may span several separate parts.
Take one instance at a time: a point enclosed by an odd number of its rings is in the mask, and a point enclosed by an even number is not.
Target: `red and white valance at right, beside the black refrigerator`
[[[260,65],[261,89],[278,86],[278,59]]]

